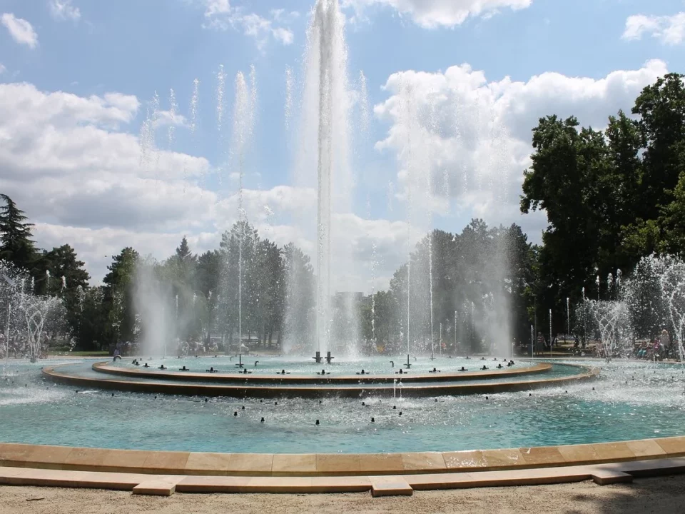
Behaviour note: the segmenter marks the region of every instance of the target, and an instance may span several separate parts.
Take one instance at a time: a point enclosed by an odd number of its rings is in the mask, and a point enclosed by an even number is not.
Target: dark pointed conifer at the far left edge
[[[33,223],[6,194],[0,194],[0,258],[31,271],[36,262],[36,248],[31,240]]]

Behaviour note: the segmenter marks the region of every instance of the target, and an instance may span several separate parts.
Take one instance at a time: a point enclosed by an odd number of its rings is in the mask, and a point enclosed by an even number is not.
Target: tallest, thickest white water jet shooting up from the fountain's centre
[[[305,54],[305,88],[301,120],[298,173],[304,173],[303,186],[309,186],[310,170],[315,169],[316,213],[316,313],[315,350],[331,350],[331,251],[336,243],[336,259],[350,251],[337,244],[333,212],[350,211],[352,180],[349,170],[350,93],[347,86],[347,47],[345,19],[338,0],[318,0],[308,29]],[[315,155],[310,148],[315,147]],[[335,192],[335,195],[333,194]],[[350,263],[351,258],[346,263]],[[340,268],[340,275],[345,270]],[[347,310],[345,304],[343,310]],[[347,317],[347,316],[346,316]]]

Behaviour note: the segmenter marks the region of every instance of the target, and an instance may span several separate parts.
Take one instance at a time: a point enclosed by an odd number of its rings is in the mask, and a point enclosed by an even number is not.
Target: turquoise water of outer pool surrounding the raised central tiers
[[[78,361],[74,369],[87,370],[92,362]],[[9,377],[0,380],[0,440],[146,450],[357,453],[597,443],[685,433],[680,365],[578,363],[601,366],[599,380],[534,390],[532,397],[522,392],[488,400],[482,395],[323,403],[294,399],[275,405],[268,400],[76,393],[76,388],[44,381],[41,363],[10,361]],[[555,366],[539,378],[569,369]],[[363,407],[362,400],[369,406]]]

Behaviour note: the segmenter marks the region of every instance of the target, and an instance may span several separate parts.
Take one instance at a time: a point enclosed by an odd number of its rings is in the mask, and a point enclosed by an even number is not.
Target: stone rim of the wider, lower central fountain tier
[[[63,364],[43,368],[44,376],[58,383],[82,386],[84,388],[101,388],[123,390],[136,393],[156,393],[187,396],[229,396],[234,398],[320,398],[325,396],[359,398],[360,395],[391,396],[395,394],[393,385],[381,385],[373,388],[365,388],[363,384],[358,387],[335,387],[333,385],[225,385],[225,384],[198,384],[198,383],[156,383],[153,381],[123,381],[116,378],[86,378],[71,375],[59,368],[71,366]],[[470,395],[470,394],[495,394],[504,392],[526,391],[544,388],[554,385],[564,385],[577,381],[594,380],[599,376],[599,368],[590,368],[578,364],[565,364],[582,370],[581,373],[572,376],[557,378],[542,378],[531,381],[512,381],[497,383],[442,383],[435,385],[413,384],[405,385],[402,382],[402,395],[419,396],[442,396],[442,395]]]

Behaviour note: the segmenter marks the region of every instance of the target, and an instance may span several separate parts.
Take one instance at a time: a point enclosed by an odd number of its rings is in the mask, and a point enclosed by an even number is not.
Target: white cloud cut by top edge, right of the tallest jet
[[[343,0],[357,18],[369,6],[388,6],[425,29],[461,25],[470,17],[492,16],[502,8],[525,9],[532,0]]]

